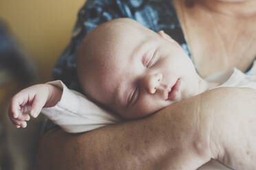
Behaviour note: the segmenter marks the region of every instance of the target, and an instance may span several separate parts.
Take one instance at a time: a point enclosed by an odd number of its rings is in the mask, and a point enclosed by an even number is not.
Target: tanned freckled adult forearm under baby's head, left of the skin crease
[[[85,134],[48,132],[39,169],[197,169],[211,158],[209,120],[198,112],[198,99]]]

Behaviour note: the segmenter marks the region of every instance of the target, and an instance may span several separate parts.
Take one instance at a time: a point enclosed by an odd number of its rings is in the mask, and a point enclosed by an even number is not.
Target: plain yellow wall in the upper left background
[[[76,15],[85,0],[0,0],[6,21],[38,68],[39,82],[51,80],[52,68],[70,41]]]

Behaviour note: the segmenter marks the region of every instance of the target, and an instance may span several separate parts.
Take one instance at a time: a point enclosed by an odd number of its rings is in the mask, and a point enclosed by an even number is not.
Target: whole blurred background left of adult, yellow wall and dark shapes
[[[32,169],[45,118],[17,129],[8,119],[12,95],[52,80],[85,0],[0,0],[0,170]]]

